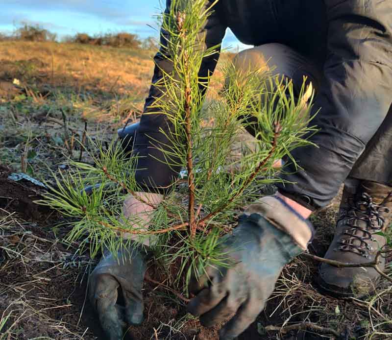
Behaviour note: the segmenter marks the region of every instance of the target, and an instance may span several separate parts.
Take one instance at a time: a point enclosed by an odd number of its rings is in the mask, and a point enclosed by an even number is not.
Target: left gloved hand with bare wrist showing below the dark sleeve
[[[163,196],[151,193],[136,193],[137,197],[153,205],[158,205]],[[153,208],[140,199],[129,195],[123,203],[124,221],[128,225],[147,228]],[[150,239],[138,239],[137,235],[122,233],[122,239],[135,239],[149,245]],[[98,266],[90,275],[89,296],[94,306],[100,324],[109,340],[123,339],[125,321],[131,325],[138,325],[143,321],[142,287],[146,272],[146,250],[138,243],[119,250],[117,257],[106,251]],[[117,289],[121,287],[125,307],[117,302]]]

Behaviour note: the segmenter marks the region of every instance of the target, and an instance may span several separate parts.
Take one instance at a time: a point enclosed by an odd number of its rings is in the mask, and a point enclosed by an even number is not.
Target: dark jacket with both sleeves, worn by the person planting
[[[227,27],[245,44],[286,44],[322,65],[324,81],[315,102],[321,111],[313,121],[320,132],[311,138],[319,148],[294,150],[294,159],[304,170],[295,172],[289,166],[288,172],[295,173],[282,177],[295,184],[280,184],[279,190],[309,207],[325,206],[392,103],[392,1],[220,0],[205,24],[205,45],[220,44]],[[218,57],[217,53],[204,60],[200,73],[213,72]],[[159,67],[152,83],[162,76],[160,68],[172,68],[160,53],[154,61]],[[152,85],[145,112],[158,96]],[[138,166],[145,170],[137,171],[137,180],[147,187],[169,186],[179,170],[155,160],[163,158],[150,147],[147,135],[164,145],[159,128],[170,128],[164,115],[142,116],[135,147],[146,156]]]

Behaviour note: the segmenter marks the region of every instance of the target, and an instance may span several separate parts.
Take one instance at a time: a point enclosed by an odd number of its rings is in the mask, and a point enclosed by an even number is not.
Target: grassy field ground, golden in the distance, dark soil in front
[[[105,339],[86,299],[96,264],[78,243],[66,244],[65,219],[34,206],[40,188],[11,183],[12,171],[50,182],[80,150],[83,131],[110,142],[117,128],[141,115],[154,51],[79,44],[0,42],[0,340]],[[224,55],[223,59],[230,58]],[[15,84],[13,84],[15,83]],[[219,90],[219,70],[212,88]],[[210,92],[207,100],[219,95]],[[249,140],[244,135],[244,141]],[[244,142],[242,141],[242,142]],[[7,194],[4,194],[7,193]],[[339,197],[313,218],[310,252],[323,256],[332,240]],[[278,281],[266,310],[239,338],[282,340],[392,339],[392,287],[335,299],[319,292],[318,263],[299,257]],[[388,273],[388,272],[387,272]],[[212,340],[185,306],[161,286],[146,284],[145,321],[126,339]]]

